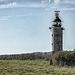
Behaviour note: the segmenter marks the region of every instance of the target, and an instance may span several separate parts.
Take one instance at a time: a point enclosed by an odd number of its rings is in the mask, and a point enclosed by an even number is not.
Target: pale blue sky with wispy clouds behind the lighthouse
[[[75,0],[0,0],[0,55],[51,52],[56,9],[65,28],[63,50],[75,49]]]

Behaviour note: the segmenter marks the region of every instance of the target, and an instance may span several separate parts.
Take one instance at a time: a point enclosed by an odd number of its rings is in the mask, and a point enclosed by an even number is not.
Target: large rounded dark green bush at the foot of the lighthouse
[[[75,66],[75,51],[59,51],[53,55],[53,64],[59,66]]]

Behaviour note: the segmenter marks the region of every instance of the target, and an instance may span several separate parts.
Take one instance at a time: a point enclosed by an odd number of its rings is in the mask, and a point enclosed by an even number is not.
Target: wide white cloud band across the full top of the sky
[[[2,1],[2,0],[0,0]],[[53,2],[52,2],[53,1]],[[52,2],[52,3],[51,3]],[[10,2],[8,4],[1,4],[0,9],[3,8],[16,8],[16,7],[26,7],[26,8],[63,8],[64,10],[75,10],[75,1],[74,0],[41,0],[41,3],[29,3],[29,4],[19,4],[17,2]],[[61,9],[62,10],[62,9]]]

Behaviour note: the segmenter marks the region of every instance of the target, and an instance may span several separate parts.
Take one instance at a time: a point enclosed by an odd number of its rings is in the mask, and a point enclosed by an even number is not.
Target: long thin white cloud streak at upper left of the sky
[[[38,8],[38,7],[45,7],[46,4],[44,3],[41,3],[41,4],[18,4],[17,2],[13,2],[13,3],[9,3],[9,4],[1,4],[0,5],[0,8],[15,8],[15,7],[35,7],[35,8]]]

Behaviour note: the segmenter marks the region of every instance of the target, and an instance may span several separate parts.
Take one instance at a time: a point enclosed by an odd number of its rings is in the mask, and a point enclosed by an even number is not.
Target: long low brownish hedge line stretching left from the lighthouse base
[[[36,52],[27,54],[0,55],[1,60],[33,60],[33,59],[50,59],[50,52]]]

